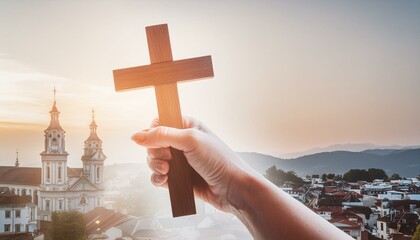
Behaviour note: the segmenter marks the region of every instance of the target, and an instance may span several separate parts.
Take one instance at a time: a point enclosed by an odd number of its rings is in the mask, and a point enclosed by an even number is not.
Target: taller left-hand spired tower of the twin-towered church
[[[54,104],[50,111],[50,125],[44,131],[44,151],[41,153],[42,190],[67,190],[67,156],[65,149],[65,131],[60,126],[56,106],[55,89]]]

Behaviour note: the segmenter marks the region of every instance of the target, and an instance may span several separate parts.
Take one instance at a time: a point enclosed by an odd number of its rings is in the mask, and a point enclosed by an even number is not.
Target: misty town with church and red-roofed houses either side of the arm
[[[173,220],[170,211],[162,207],[164,203],[156,204],[165,202],[167,197],[148,186],[145,166],[105,166],[107,157],[94,111],[84,141],[82,167],[68,167],[66,134],[59,114],[54,100],[50,123],[43,133],[39,167],[21,167],[18,150],[14,162],[0,166],[0,239],[60,239],[58,236],[68,234],[68,239],[73,239],[78,229],[88,239],[251,238],[238,219],[202,202],[196,216]],[[343,151],[330,154],[334,153]],[[410,160],[407,154],[414,155],[417,164],[413,167],[418,171],[420,149],[364,151],[372,156],[393,153],[405,161]],[[258,165],[258,159],[247,157],[248,154],[241,155],[250,165]],[[415,239],[413,236],[419,234],[420,175],[388,176],[383,169],[369,168],[299,177],[276,165],[263,174],[354,239]],[[69,216],[61,219],[60,212]],[[71,224],[68,227],[74,229],[54,232],[58,228],[54,224],[65,221],[81,225]]]

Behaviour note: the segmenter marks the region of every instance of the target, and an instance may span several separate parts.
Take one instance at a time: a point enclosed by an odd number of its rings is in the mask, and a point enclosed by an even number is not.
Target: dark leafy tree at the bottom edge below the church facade
[[[53,212],[51,216],[51,239],[86,240],[86,224],[83,214],[76,210]]]

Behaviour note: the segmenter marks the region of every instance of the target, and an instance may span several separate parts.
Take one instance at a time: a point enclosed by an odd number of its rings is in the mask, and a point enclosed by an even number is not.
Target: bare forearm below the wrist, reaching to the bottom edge
[[[245,173],[233,181],[231,212],[256,239],[351,239],[261,176]]]

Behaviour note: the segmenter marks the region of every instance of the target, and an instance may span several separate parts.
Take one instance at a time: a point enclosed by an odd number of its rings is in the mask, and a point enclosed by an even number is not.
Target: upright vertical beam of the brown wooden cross
[[[171,43],[168,25],[146,27],[147,44],[149,46],[150,62],[153,66],[159,63],[173,65]],[[163,71],[165,72],[165,71]],[[163,77],[157,71],[157,78]],[[165,72],[169,73],[169,72]],[[157,84],[159,84],[157,82]],[[179,105],[178,87],[176,82],[155,87],[156,101],[159,112],[159,124],[162,126],[183,128],[181,106]],[[169,162],[168,188],[171,199],[172,216],[195,214],[194,191],[191,177],[191,167],[184,153],[171,148],[172,159]]]

